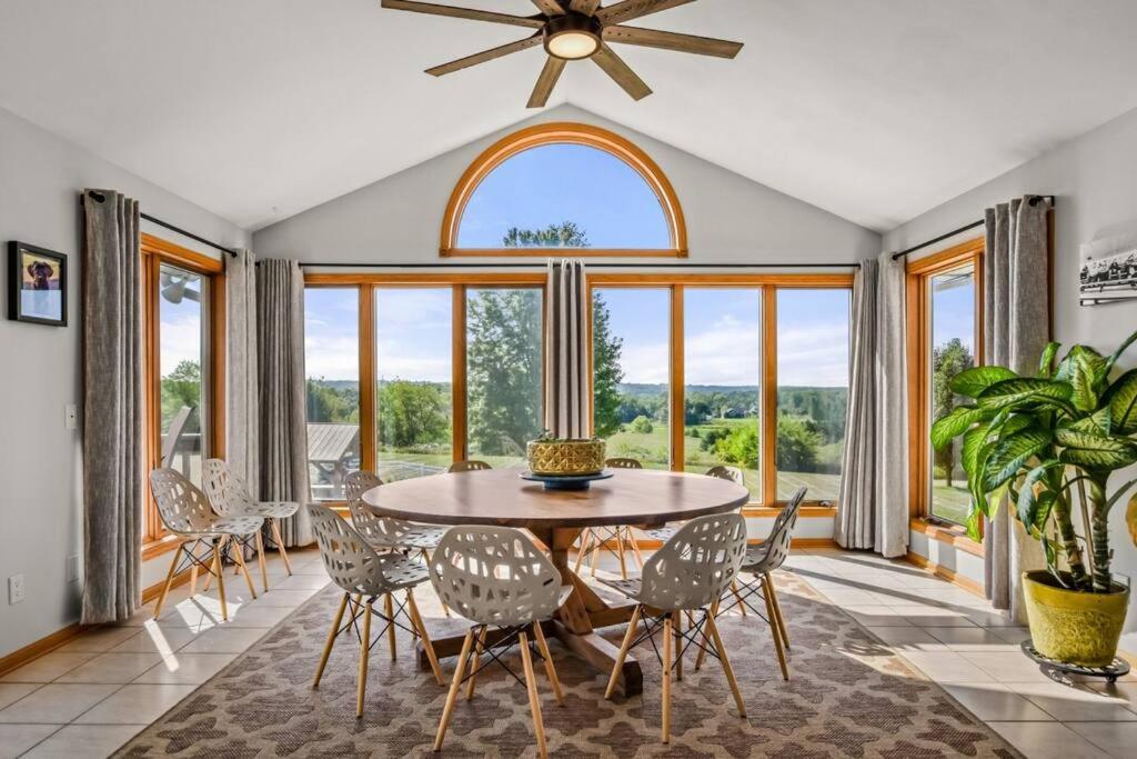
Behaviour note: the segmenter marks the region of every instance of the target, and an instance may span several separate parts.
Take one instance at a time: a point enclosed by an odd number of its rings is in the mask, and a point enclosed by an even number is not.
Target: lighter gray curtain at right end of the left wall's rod
[[[251,250],[225,257],[225,459],[258,497],[257,269]]]

